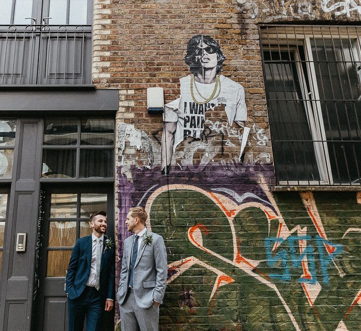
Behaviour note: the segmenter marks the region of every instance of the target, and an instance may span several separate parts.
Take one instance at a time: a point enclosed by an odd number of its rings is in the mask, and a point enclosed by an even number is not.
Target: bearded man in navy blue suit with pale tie
[[[93,233],[79,238],[74,246],[66,273],[69,331],[82,331],[87,317],[87,331],[100,330],[104,311],[114,303],[115,248],[106,238],[106,214],[90,216]]]

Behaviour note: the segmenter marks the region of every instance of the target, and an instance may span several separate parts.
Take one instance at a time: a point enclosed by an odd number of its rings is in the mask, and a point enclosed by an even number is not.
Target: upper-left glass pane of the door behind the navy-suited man
[[[52,194],[51,218],[76,218],[77,194]]]

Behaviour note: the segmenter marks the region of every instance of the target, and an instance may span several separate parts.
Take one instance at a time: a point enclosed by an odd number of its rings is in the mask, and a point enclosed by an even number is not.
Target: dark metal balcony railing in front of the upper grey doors
[[[91,84],[91,25],[0,25],[0,85]]]

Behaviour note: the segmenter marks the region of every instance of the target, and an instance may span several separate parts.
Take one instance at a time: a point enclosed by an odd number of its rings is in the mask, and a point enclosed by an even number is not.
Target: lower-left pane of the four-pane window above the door
[[[42,177],[74,178],[75,171],[75,149],[43,149]]]

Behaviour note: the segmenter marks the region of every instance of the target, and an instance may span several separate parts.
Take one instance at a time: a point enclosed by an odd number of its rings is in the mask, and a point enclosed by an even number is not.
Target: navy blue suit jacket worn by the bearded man
[[[106,236],[104,235],[104,241]],[[103,252],[100,271],[101,299],[114,299],[115,294],[115,245],[105,249]],[[90,267],[92,265],[92,236],[79,238],[71,253],[66,273],[66,293],[69,299],[78,298],[87,285]]]

